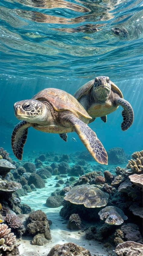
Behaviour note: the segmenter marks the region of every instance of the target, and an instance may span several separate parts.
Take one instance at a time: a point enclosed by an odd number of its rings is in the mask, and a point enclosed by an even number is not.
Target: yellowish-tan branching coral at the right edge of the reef
[[[134,152],[132,154],[132,158],[131,160],[128,161],[127,164],[127,168],[129,170],[127,170],[127,173],[137,173],[137,174],[141,174],[143,173],[143,150],[141,150],[140,152]]]

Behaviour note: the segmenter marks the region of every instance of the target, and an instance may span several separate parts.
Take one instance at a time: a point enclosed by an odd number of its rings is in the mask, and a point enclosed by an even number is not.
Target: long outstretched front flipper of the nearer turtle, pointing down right
[[[97,138],[96,133],[87,124],[79,120],[77,117],[69,117],[68,121],[73,126],[75,132],[83,142],[84,146],[100,164],[107,165],[108,156],[102,143]]]

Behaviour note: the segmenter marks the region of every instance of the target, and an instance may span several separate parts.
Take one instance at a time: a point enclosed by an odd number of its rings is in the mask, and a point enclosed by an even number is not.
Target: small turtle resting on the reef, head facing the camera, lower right
[[[116,206],[106,206],[98,215],[101,220],[106,219],[105,223],[109,225],[121,225],[124,220],[128,219],[123,211]]]

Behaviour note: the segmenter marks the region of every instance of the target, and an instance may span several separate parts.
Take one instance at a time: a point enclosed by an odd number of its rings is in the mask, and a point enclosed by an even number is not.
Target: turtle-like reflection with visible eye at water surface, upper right
[[[112,27],[111,32],[114,36],[119,37],[120,39],[125,38],[138,38],[141,32],[143,31],[143,27],[141,24],[137,24],[136,26],[130,27]]]

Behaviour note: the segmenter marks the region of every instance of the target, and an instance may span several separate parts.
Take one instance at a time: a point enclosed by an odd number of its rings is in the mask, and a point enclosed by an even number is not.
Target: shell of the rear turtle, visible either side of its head
[[[89,81],[89,82],[87,82],[85,85],[81,86],[78,89],[78,91],[76,91],[76,93],[74,94],[74,97],[79,101],[81,99],[81,97],[87,95],[91,91],[93,85],[94,85],[94,79]],[[120,98],[123,99],[122,92],[117,87],[117,85],[115,85],[113,82],[111,82],[111,89],[112,89],[113,92],[118,93]]]

